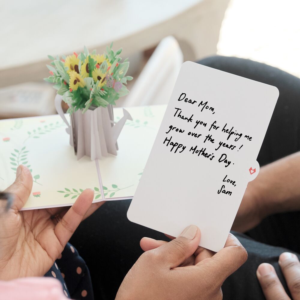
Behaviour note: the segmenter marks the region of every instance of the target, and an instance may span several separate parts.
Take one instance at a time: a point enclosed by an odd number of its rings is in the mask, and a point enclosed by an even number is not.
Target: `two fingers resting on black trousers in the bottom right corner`
[[[300,262],[298,257],[289,252],[279,256],[283,276],[293,300],[300,300]],[[285,292],[274,267],[268,263],[259,265],[256,276],[262,287],[266,300],[291,300]]]

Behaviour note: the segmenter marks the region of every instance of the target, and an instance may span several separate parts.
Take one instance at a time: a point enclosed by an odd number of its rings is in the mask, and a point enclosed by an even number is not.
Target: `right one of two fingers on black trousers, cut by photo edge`
[[[298,257],[289,252],[279,256],[279,265],[294,300],[300,300],[300,262]]]

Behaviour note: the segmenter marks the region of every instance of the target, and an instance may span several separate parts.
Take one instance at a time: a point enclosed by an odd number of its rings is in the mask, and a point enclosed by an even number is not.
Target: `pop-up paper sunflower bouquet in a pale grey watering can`
[[[128,94],[126,84],[133,77],[126,76],[129,61],[119,57],[112,44],[106,52],[97,54],[94,50],[77,55],[56,58],[48,56],[52,62],[47,65],[50,76],[47,82],[55,83],[57,89],[55,107],[58,114],[68,125],[70,145],[74,147],[77,159],[87,155],[92,160],[102,158],[108,153],[117,155],[117,138],[130,114],[123,109],[124,116],[115,123],[113,105]],[[61,101],[68,104],[70,124],[64,116]]]

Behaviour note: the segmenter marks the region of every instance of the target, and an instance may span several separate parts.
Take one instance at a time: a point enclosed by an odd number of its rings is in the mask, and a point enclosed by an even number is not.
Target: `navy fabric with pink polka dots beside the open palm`
[[[58,279],[68,298],[94,300],[88,267],[77,250],[69,243],[44,276]]]

